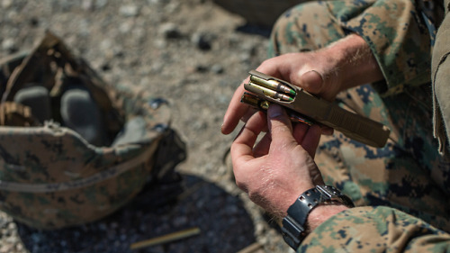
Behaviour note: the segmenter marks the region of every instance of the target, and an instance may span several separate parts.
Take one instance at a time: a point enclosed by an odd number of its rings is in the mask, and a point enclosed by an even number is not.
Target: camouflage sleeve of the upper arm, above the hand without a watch
[[[404,86],[430,82],[433,23],[444,12],[442,1],[434,2],[437,5],[417,0],[329,1],[327,5],[342,27],[369,44],[385,77],[375,87],[389,95],[400,93]]]

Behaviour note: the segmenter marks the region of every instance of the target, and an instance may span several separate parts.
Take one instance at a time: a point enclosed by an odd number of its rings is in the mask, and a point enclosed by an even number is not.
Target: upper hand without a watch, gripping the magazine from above
[[[301,86],[329,101],[349,87],[383,78],[369,46],[355,34],[348,35],[323,50],[290,53],[267,59],[257,71]],[[245,82],[248,82],[248,78]],[[239,120],[247,122],[256,112],[247,104],[239,102],[243,93],[244,86],[241,84],[231,98],[223,118],[221,131],[224,134],[233,131]]]

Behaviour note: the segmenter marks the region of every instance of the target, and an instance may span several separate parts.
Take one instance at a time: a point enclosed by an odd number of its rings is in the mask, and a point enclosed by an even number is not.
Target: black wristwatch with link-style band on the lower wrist
[[[350,198],[341,194],[337,188],[330,185],[316,185],[301,194],[287,210],[282,227],[284,241],[297,250],[306,237],[305,223],[311,210],[320,204],[329,203],[343,203],[347,207],[355,206]]]

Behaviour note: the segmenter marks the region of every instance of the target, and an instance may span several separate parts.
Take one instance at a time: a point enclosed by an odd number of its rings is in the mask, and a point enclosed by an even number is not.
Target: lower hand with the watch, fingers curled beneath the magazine
[[[314,163],[320,127],[292,126],[283,108],[272,104],[266,114],[255,113],[231,146],[231,158],[238,187],[250,199],[284,217],[289,206],[304,191],[323,184]],[[256,144],[257,136],[269,132]]]

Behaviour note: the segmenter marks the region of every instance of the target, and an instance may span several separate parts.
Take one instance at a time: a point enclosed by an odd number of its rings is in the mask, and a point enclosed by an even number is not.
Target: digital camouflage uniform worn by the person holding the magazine
[[[450,248],[450,159],[439,154],[433,137],[430,86],[433,24],[442,21],[444,8],[439,1],[424,2],[311,2],[295,6],[275,23],[271,57],[317,50],[352,32],[362,36],[385,80],[349,89],[337,101],[392,130],[383,149],[338,131],[322,137],[316,162],[326,183],[359,207],[324,222],[298,251]]]

